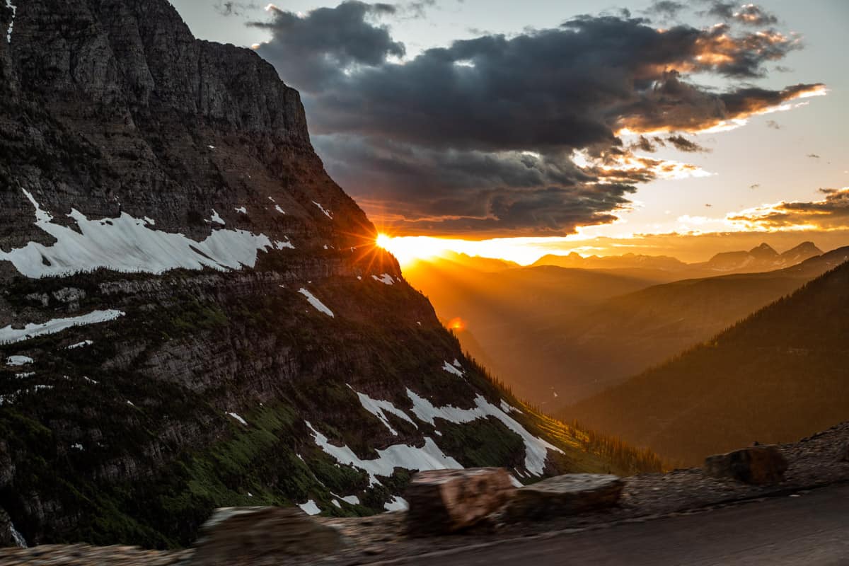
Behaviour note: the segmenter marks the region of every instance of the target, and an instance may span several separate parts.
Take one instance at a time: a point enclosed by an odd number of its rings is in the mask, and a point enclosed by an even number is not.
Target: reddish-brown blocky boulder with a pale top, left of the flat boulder
[[[465,529],[498,511],[515,491],[504,468],[419,472],[404,496],[410,506],[408,532],[438,535]]]

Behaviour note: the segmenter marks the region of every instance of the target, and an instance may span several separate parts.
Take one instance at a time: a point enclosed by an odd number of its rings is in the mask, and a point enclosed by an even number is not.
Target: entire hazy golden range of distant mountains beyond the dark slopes
[[[784,265],[818,249],[805,243],[780,255],[769,250],[762,245],[737,257],[754,258],[750,266]],[[732,261],[718,254],[695,269],[674,258],[622,255],[585,258],[596,268],[504,263],[492,271],[499,264],[489,262],[490,271],[482,272],[480,258],[451,255],[404,273],[440,317],[463,319],[457,335],[469,353],[518,395],[549,406],[598,393],[710,338],[838,265],[846,252],[769,272],[683,280],[676,279]],[[572,260],[567,265],[580,264]]]

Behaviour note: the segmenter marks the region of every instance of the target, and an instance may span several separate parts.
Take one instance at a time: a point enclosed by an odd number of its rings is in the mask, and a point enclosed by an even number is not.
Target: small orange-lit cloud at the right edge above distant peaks
[[[748,230],[839,230],[849,228],[849,187],[821,188],[824,198],[782,201],[732,213],[727,220]]]

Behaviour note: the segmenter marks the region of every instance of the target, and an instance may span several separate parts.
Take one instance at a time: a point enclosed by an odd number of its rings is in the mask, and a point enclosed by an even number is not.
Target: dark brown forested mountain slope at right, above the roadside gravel
[[[783,442],[849,415],[849,263],[570,417],[673,460]]]

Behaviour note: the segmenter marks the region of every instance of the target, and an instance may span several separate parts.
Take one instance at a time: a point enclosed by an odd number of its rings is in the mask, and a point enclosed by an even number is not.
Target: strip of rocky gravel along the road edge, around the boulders
[[[562,530],[603,528],[621,522],[702,512],[768,496],[794,496],[825,485],[849,482],[847,446],[849,422],[799,442],[780,446],[789,468],[784,474],[784,480],[775,485],[746,485],[733,479],[715,479],[703,474],[700,468],[678,469],[668,474],[641,474],[624,479],[621,500],[616,507],[527,523],[511,523],[496,514],[485,523],[458,535],[410,536],[406,513],[385,513],[369,518],[318,518],[320,523],[340,530],[345,541],[340,552],[312,558],[274,556],[252,560],[250,564],[352,565],[383,562],[428,552],[493,544],[511,538],[551,535]],[[193,552],[143,551],[128,546],[50,545],[30,549],[0,549],[0,563],[7,566],[165,566],[188,564]]]

